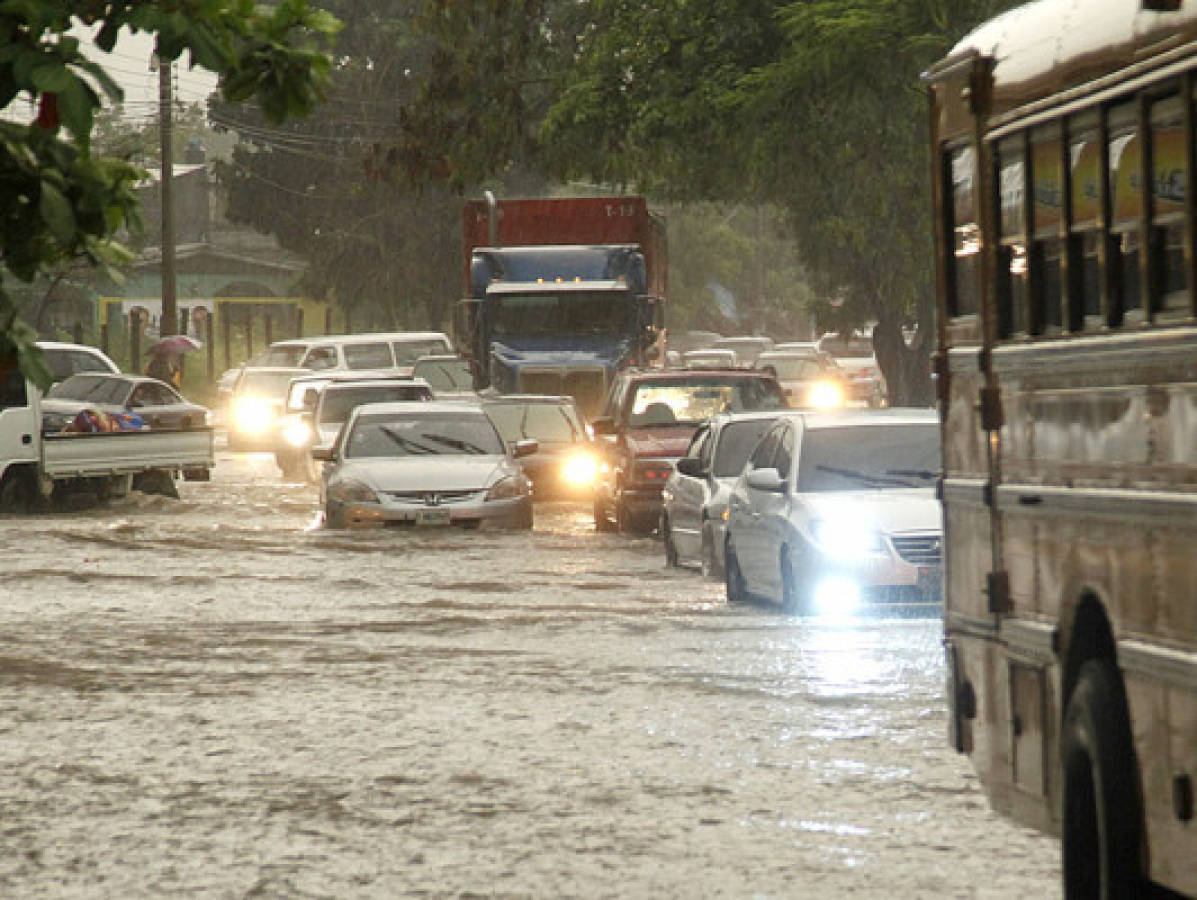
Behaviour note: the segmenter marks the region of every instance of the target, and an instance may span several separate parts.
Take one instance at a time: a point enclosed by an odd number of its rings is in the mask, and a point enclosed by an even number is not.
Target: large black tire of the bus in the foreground
[[[1143,817],[1126,694],[1112,662],[1081,667],[1064,713],[1061,761],[1065,899],[1140,896]]]

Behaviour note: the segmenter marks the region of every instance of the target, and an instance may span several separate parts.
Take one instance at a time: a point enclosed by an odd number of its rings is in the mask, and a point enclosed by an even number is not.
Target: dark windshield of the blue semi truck
[[[618,291],[502,294],[491,303],[496,336],[539,334],[622,334],[627,294]]]

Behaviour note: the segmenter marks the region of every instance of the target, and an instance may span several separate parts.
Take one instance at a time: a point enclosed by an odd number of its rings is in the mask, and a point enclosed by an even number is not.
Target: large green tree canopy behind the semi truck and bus
[[[421,159],[436,160],[409,166],[408,177],[484,177],[522,154],[560,178],[678,202],[777,205],[824,321],[875,322],[892,399],[929,400],[934,286],[918,77],[1013,4],[589,0],[499,4],[498,16],[494,0],[424,1],[435,72],[450,87],[425,85],[406,121],[454,124],[408,135],[423,140]],[[500,75],[470,74],[476,59],[500,59]],[[546,84],[539,130],[494,133],[487,115],[527,122]],[[474,134],[492,139],[481,150],[460,140]],[[901,328],[916,322],[907,347]]]

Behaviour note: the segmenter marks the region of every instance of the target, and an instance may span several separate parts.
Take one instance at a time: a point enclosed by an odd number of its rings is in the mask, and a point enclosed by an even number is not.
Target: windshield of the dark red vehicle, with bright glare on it
[[[633,428],[698,425],[718,413],[782,409],[785,401],[767,378],[686,378],[639,384],[632,397]]]

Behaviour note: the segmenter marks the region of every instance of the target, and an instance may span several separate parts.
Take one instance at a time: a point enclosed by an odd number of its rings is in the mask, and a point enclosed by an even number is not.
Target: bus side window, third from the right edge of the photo
[[[1070,328],[1099,330],[1101,280],[1098,248],[1101,244],[1096,116],[1087,115],[1069,123],[1068,156],[1071,165],[1073,220],[1069,233],[1068,305]]]

